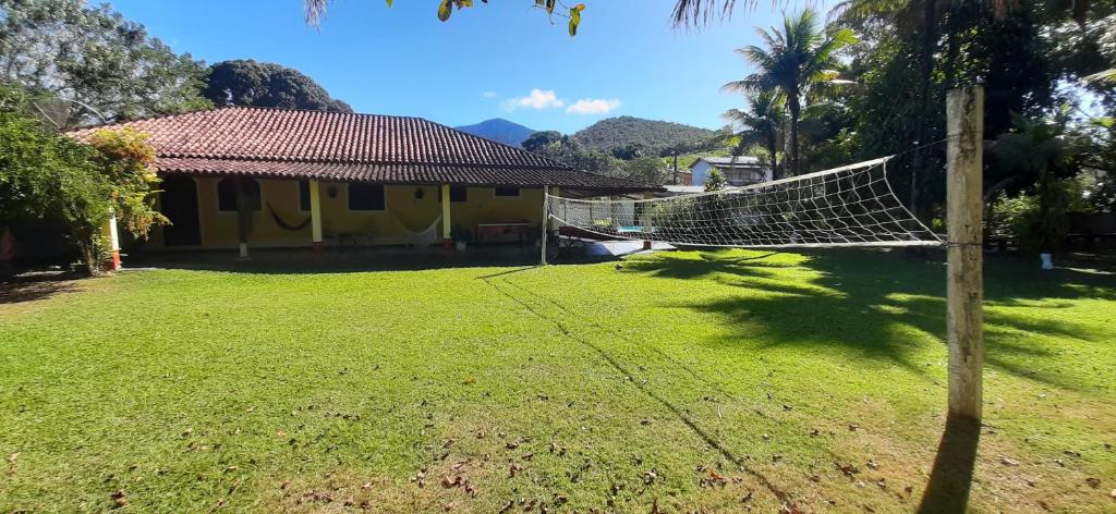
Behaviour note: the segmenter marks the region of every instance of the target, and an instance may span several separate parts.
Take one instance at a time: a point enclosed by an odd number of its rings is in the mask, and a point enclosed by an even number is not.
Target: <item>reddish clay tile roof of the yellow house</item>
[[[412,117],[225,107],[109,125],[151,135],[162,173],[248,174],[386,184],[648,191]],[[69,133],[87,140],[97,129]]]

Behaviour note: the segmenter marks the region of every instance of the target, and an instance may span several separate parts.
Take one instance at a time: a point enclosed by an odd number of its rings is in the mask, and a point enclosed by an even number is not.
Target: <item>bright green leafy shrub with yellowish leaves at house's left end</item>
[[[105,250],[100,227],[110,216],[140,237],[167,223],[154,210],[155,152],[131,130],[100,130],[92,145],[79,144],[28,114],[29,101],[23,91],[0,88],[0,224],[64,223],[95,274]]]

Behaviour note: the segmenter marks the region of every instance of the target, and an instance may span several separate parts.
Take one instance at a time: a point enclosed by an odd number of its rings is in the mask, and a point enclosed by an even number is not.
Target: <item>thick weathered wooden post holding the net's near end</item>
[[[946,324],[950,415],[981,419],[983,345],[982,143],[984,90],[951,89],[946,96],[946,222],[949,270]]]

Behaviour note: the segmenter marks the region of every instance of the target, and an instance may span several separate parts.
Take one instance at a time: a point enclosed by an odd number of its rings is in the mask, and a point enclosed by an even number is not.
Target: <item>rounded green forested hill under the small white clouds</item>
[[[574,134],[574,139],[589,149],[614,153],[631,145],[642,146],[646,154],[660,154],[680,145],[703,146],[716,133],[672,122],[620,116],[602,119]]]

